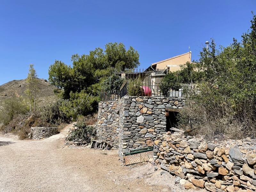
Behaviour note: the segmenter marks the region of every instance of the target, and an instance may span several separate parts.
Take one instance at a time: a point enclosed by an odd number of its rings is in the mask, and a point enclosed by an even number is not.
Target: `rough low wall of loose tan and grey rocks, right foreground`
[[[155,169],[176,175],[186,189],[256,191],[256,142],[250,138],[206,142],[199,136],[167,132],[154,143]]]

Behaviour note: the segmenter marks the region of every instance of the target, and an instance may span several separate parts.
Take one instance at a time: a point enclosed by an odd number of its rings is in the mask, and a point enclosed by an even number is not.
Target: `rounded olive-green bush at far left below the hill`
[[[15,115],[24,115],[28,111],[28,105],[22,97],[6,99],[0,111],[0,123],[7,125]]]

